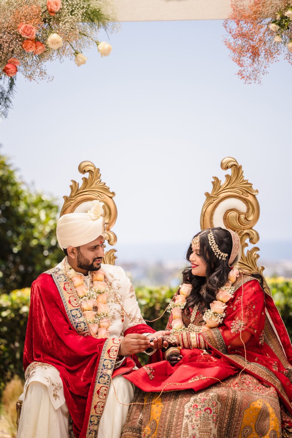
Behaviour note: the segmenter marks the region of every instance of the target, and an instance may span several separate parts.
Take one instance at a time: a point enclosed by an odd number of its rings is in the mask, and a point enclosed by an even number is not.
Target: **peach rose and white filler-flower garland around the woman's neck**
[[[225,318],[225,308],[227,305],[227,301],[229,301],[235,292],[234,287],[232,286],[235,283],[236,279],[239,276],[239,270],[233,268],[229,272],[228,281],[224,286],[218,289],[216,294],[216,300],[214,300],[210,304],[210,309],[207,309],[204,312],[203,319],[205,321],[205,325],[203,325],[200,329],[204,330],[207,328],[218,327],[219,324],[222,323]],[[195,326],[193,326],[193,321],[196,318],[198,305],[193,307],[192,316],[190,320],[190,324],[186,327],[183,324],[182,318],[182,309],[186,306],[186,297],[190,295],[192,292],[193,286],[189,283],[183,283],[180,287],[179,294],[176,295],[175,300],[169,304],[168,311],[172,314],[172,334],[177,332],[186,332],[186,331],[195,331]],[[204,288],[200,291],[201,295],[204,293]]]

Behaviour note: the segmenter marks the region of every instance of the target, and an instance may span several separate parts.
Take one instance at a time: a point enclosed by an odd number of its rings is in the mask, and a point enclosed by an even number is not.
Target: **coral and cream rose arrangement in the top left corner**
[[[0,0],[0,117],[11,107],[18,71],[28,80],[49,78],[46,61],[73,57],[80,67],[92,45],[109,56],[112,46],[97,33],[116,28],[113,8],[111,0]]]

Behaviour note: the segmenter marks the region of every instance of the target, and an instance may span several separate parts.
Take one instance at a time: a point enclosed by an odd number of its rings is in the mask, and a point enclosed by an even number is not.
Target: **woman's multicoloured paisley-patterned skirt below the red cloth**
[[[242,373],[204,390],[137,390],[122,438],[278,438],[277,392]],[[288,435],[287,435],[288,436]]]

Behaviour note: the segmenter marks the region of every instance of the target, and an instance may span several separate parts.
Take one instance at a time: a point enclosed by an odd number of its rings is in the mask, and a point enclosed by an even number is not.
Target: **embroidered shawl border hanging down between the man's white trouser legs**
[[[106,339],[95,378],[86,438],[96,438],[102,412],[106,405],[110,379],[116,363],[121,338]]]

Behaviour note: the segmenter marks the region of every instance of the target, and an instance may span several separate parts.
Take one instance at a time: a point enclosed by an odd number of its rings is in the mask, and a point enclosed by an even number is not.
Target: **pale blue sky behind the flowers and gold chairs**
[[[292,240],[292,67],[245,85],[223,34],[222,21],[122,23],[109,57],[48,64],[49,83],[20,76],[2,153],[60,204],[79,162],[94,162],[116,192],[121,244],[188,242],[231,155],[259,190],[260,237]]]

